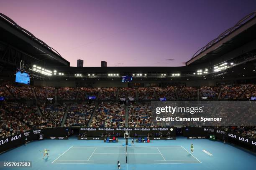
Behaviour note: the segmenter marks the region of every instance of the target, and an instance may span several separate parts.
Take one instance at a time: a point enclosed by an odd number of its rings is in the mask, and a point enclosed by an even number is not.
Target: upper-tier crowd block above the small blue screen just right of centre
[[[156,90],[156,96],[158,97],[158,100],[160,98],[166,98],[166,100],[177,100],[177,97],[175,95],[175,87],[154,87]]]

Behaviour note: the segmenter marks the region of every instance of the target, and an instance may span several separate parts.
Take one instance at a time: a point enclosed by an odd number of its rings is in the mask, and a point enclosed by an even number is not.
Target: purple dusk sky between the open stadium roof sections
[[[182,66],[255,0],[0,0],[0,12],[84,66]]]

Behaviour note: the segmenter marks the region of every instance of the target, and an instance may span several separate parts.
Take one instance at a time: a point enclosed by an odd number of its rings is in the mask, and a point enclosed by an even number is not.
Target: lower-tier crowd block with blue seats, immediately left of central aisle
[[[91,127],[121,128],[125,126],[125,107],[101,103],[92,118]]]

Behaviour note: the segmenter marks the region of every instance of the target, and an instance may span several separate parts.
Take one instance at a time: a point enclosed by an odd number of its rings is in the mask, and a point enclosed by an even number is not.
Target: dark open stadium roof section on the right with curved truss
[[[200,48],[186,65],[196,65],[220,57],[237,47],[256,40],[256,12],[246,15],[236,25]]]

